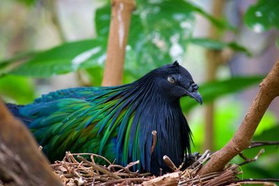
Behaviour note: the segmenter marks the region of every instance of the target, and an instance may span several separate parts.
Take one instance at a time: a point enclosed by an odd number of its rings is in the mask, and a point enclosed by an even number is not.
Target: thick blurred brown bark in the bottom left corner
[[[62,185],[26,127],[0,100],[0,183]]]

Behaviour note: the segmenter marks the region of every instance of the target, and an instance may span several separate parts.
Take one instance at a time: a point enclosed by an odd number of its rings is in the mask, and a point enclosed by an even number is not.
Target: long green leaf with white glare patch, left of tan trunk
[[[32,59],[14,68],[11,73],[29,77],[50,77],[82,68],[101,66],[105,61],[103,40],[68,42],[38,52]]]

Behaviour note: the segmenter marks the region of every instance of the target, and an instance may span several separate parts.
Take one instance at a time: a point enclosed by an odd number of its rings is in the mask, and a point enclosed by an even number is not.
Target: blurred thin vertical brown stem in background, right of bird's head
[[[216,0],[213,1],[213,16],[214,17],[221,17],[223,13],[223,6],[224,6],[225,1],[224,0]],[[215,26],[211,24],[209,28],[209,38],[218,40],[220,38],[218,36],[218,31]],[[220,63],[220,54],[221,51],[209,49],[206,52],[207,56],[207,77],[206,81],[213,81],[216,79],[216,72],[218,69],[218,65]],[[206,107],[206,113],[205,113],[205,141],[204,141],[204,150],[205,149],[211,149],[213,150],[214,148],[214,143],[213,143],[213,137],[214,137],[214,125],[213,125],[213,118],[214,118],[214,103],[212,102]]]

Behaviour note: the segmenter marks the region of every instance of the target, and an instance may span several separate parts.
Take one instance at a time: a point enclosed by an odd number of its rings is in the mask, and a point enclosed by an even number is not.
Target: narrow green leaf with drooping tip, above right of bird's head
[[[206,49],[220,50],[220,49],[224,49],[225,47],[229,47],[236,52],[244,52],[248,56],[251,55],[251,53],[248,51],[248,49],[237,44],[236,42],[222,42],[222,41],[213,40],[210,38],[191,38],[190,42],[194,45],[199,45]]]

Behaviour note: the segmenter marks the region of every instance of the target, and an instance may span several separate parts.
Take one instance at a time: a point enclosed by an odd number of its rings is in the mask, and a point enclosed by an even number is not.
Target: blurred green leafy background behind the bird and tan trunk
[[[202,153],[222,148],[278,59],[279,1],[136,3],[123,83],[178,60],[204,98],[202,106],[181,100],[193,130],[193,149]],[[27,104],[61,88],[100,86],[109,1],[1,0],[0,25],[0,95],[6,102]],[[278,140],[278,103],[277,98],[266,111],[255,140]],[[259,160],[241,166],[243,178],[279,178],[279,150],[264,148]],[[244,155],[252,158],[259,149],[245,150]]]

